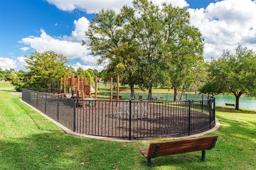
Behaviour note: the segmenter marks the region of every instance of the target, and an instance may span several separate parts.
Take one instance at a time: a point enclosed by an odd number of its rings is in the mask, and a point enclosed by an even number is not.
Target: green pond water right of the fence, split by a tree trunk
[[[235,96],[217,95],[214,97],[215,97],[216,105],[218,106],[226,106],[225,103],[236,104]],[[239,108],[256,110],[256,99],[246,98],[245,96],[241,96],[239,99]]]

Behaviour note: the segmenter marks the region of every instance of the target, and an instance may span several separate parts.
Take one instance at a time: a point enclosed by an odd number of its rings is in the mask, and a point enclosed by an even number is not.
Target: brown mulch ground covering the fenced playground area
[[[32,106],[36,105],[36,99],[31,101],[35,102]],[[56,98],[48,98],[45,107],[45,99],[42,96],[37,100],[37,108],[41,111],[46,109],[46,115],[58,120],[68,129],[87,135],[144,140],[189,134],[189,109],[182,105],[182,102],[175,105],[165,102],[138,102],[131,103],[131,106],[129,102],[122,101],[113,101],[112,104],[108,100],[97,101],[96,104],[94,102],[86,101],[91,104],[84,107],[75,104],[74,109],[73,100],[60,98],[57,115]],[[214,127],[214,124],[210,127],[209,113],[204,111],[208,110],[207,108],[197,108],[198,106],[193,104],[192,107],[194,109],[191,109],[190,113],[190,135]]]

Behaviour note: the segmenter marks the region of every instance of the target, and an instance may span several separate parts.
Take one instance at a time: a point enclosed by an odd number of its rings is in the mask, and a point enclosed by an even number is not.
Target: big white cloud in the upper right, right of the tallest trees
[[[198,27],[205,37],[204,57],[220,57],[223,49],[234,51],[256,46],[256,1],[223,0],[207,8],[190,9],[191,24]]]

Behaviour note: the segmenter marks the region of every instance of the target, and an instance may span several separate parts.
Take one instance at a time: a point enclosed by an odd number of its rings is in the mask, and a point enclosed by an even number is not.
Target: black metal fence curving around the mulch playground
[[[139,96],[143,95],[135,98]],[[22,100],[68,129],[87,135],[148,139],[190,135],[212,128],[215,123],[215,98],[187,95],[182,102],[171,102],[164,101],[160,94],[150,96],[154,100],[76,100],[44,93],[44,90],[22,90]]]

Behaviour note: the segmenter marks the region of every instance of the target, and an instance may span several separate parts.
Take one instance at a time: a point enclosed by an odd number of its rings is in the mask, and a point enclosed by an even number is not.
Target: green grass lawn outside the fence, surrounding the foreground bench
[[[216,146],[206,151],[146,158],[150,141],[115,142],[67,135],[54,123],[0,90],[0,170],[255,170],[256,112],[217,109]],[[165,141],[158,139],[154,141]]]

